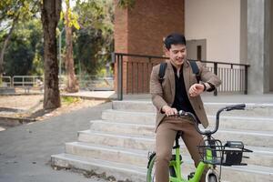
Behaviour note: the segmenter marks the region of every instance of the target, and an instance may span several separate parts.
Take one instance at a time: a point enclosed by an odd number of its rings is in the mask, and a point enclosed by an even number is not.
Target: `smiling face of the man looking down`
[[[187,57],[186,45],[171,45],[167,50],[167,56],[174,66],[181,66]]]

